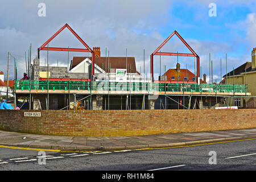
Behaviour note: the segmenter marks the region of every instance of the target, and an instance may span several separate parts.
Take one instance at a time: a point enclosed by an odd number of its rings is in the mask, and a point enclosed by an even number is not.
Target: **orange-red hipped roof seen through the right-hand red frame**
[[[187,81],[195,81],[196,77],[195,74],[193,74],[191,71],[189,71],[188,69],[180,69],[179,72],[179,81],[183,81],[184,77],[187,77],[187,73],[188,73],[188,80]],[[168,71],[164,74],[167,76],[167,81],[177,81],[177,75],[178,72],[176,69],[168,69]],[[172,77],[175,77],[175,80],[172,79]],[[195,80],[193,80],[192,78],[195,77]],[[203,82],[203,80],[200,79],[201,82]]]

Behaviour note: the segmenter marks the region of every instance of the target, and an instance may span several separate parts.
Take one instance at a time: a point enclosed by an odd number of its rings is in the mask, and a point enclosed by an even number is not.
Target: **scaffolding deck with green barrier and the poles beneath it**
[[[49,109],[49,102],[54,94],[60,97],[60,100],[69,98],[61,109],[76,110],[77,102],[82,100],[82,105],[88,110],[213,109],[217,104],[231,106],[234,97],[247,98],[250,93],[246,93],[246,86],[135,81],[16,80],[15,96],[17,94],[18,97],[30,98],[32,95],[30,102],[39,95],[46,96],[46,106],[40,105],[41,109]],[[73,99],[70,99],[71,96]],[[222,101],[225,103],[221,104]],[[28,101],[29,106],[30,102]]]

